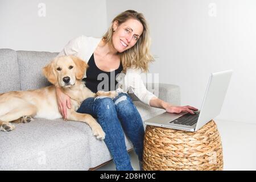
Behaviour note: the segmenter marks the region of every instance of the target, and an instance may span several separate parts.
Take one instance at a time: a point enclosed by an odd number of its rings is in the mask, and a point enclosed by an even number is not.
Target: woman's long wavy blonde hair
[[[114,22],[117,20],[118,25],[120,25],[129,19],[136,19],[141,22],[143,32],[133,47],[119,53],[123,65],[123,72],[126,73],[127,68],[140,68],[143,72],[147,72],[148,63],[154,61],[154,58],[150,53],[150,36],[148,25],[142,13],[138,13],[134,10],[127,10],[117,15],[112,20],[112,25],[109,27],[108,32],[106,32],[106,34],[103,36],[103,40],[113,46],[112,36]]]

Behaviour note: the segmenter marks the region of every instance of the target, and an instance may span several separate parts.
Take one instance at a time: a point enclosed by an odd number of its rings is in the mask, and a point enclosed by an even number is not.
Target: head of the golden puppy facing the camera
[[[60,56],[43,68],[43,74],[53,85],[70,87],[82,79],[87,68],[88,64],[79,57]]]

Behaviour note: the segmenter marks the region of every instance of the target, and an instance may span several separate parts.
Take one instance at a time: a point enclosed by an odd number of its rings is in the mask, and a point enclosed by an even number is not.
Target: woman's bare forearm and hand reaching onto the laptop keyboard
[[[158,107],[160,109],[166,110],[168,113],[181,113],[181,112],[188,112],[191,114],[195,114],[193,111],[196,111],[195,107],[192,106],[174,106],[167,102],[164,102],[163,100],[160,100],[159,98],[153,97],[150,100],[150,106],[151,107]]]

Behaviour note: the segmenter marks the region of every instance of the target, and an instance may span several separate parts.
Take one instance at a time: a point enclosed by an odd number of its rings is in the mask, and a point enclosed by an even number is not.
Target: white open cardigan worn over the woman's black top
[[[57,56],[75,55],[88,63],[100,41],[101,38],[79,36],[69,41]],[[119,74],[116,78],[118,82],[117,92],[127,93],[131,90],[144,104],[150,105],[150,100],[157,97],[147,90],[143,84],[141,73],[141,69],[128,68],[126,74]]]

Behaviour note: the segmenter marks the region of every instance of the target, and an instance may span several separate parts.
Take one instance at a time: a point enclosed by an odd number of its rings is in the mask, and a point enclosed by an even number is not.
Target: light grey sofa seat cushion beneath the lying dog
[[[92,131],[85,123],[35,119],[15,126],[0,132],[0,171],[89,169]]]

